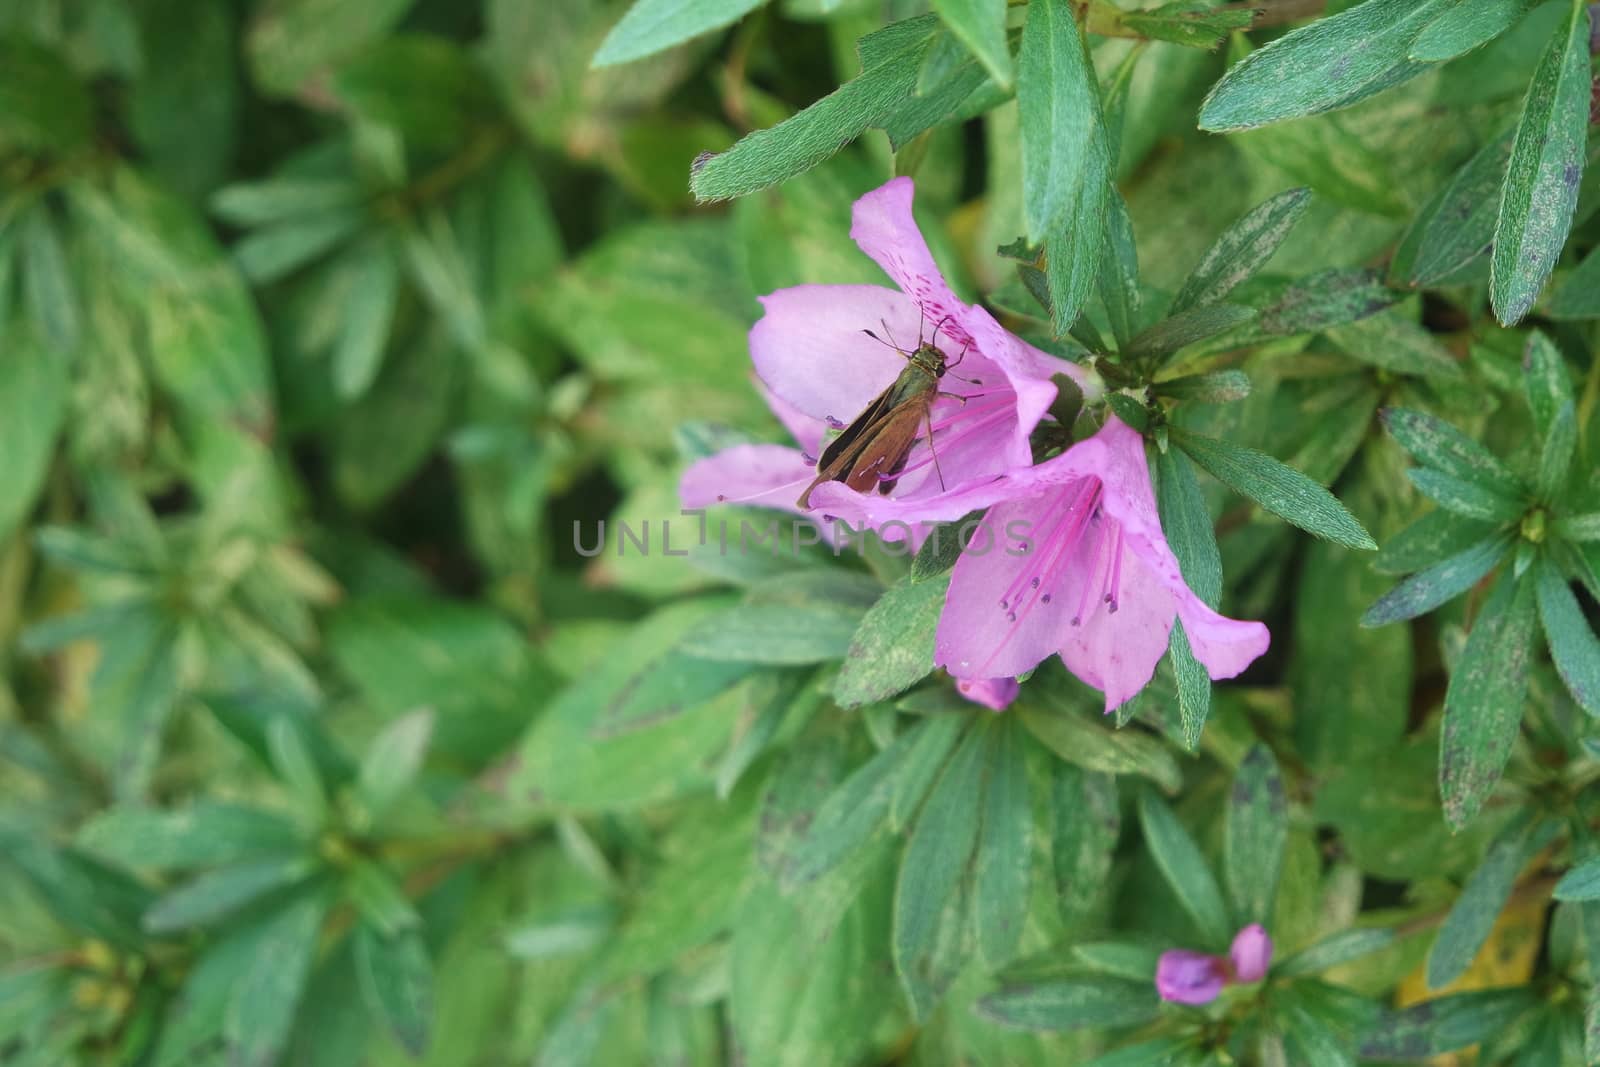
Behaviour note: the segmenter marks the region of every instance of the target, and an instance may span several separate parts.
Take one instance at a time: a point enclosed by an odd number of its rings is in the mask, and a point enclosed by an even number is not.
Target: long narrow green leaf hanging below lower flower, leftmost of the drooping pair
[[[894,971],[912,1017],[926,1019],[966,960],[987,731],[968,733],[928,795],[894,885]]]

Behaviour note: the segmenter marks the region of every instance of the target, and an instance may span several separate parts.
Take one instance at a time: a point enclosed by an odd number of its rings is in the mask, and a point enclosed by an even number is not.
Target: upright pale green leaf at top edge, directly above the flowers
[[[1104,182],[1109,158],[1099,85],[1067,0],[1029,5],[1018,51],[1018,110],[1022,218],[1029,240],[1038,242],[1082,219],[1074,210],[1080,190]]]

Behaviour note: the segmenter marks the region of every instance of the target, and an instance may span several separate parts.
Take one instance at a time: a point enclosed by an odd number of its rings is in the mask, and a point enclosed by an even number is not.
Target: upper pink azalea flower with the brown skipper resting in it
[[[899,291],[875,285],[800,285],[762,298],[766,314],[750,330],[750,357],[774,414],[800,450],[744,445],[696,462],[680,493],[685,507],[739,502],[800,510],[802,491],[816,477],[816,456],[827,429],[859,416],[906,368],[918,342],[936,342],[949,370],[944,395],[933,400],[928,434],[893,482],[878,493],[842,483],[819,485],[813,512],[861,528],[870,504],[899,501],[896,520],[912,528],[925,506],[962,486],[990,480],[1034,462],[1029,434],[1056,397],[1051,376],[1085,373],[1006,333],[995,318],[950,291],[912,219],[912,181],[896,178],[856,202],[850,235],[894,280]],[[877,334],[877,339],[866,331]],[[888,490],[885,494],[882,490]],[[888,539],[904,531],[885,530]]]

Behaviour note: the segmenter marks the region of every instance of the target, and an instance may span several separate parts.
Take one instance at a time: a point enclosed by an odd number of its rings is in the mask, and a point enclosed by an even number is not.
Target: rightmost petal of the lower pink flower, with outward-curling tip
[[[1261,622],[1229,619],[1200,600],[1182,577],[1173,557],[1162,522],[1155,512],[1155,493],[1150,488],[1150,469],[1144,458],[1144,438],[1115,418],[1088,442],[1080,442],[1070,453],[1085,445],[1099,443],[1099,477],[1106,485],[1102,507],[1122,523],[1128,552],[1144,565],[1150,579],[1144,584],[1155,598],[1154,589],[1165,587],[1171,593],[1171,609],[1184,621],[1189,646],[1213,678],[1232,678],[1267,651],[1270,633]],[[1126,566],[1126,563],[1125,563]],[[1128,568],[1134,571],[1136,568]],[[1133,597],[1125,597],[1123,603]],[[1163,611],[1166,606],[1162,608]],[[1168,619],[1168,629],[1171,621]],[[1109,699],[1110,694],[1107,694]]]

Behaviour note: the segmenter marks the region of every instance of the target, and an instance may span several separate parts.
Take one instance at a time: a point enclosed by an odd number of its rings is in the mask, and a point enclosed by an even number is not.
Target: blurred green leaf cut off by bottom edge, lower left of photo
[[[230,990],[222,1019],[230,1064],[269,1067],[278,1062],[317,958],[317,934],[326,912],[326,896],[307,893],[262,920],[254,931],[254,952]]]

